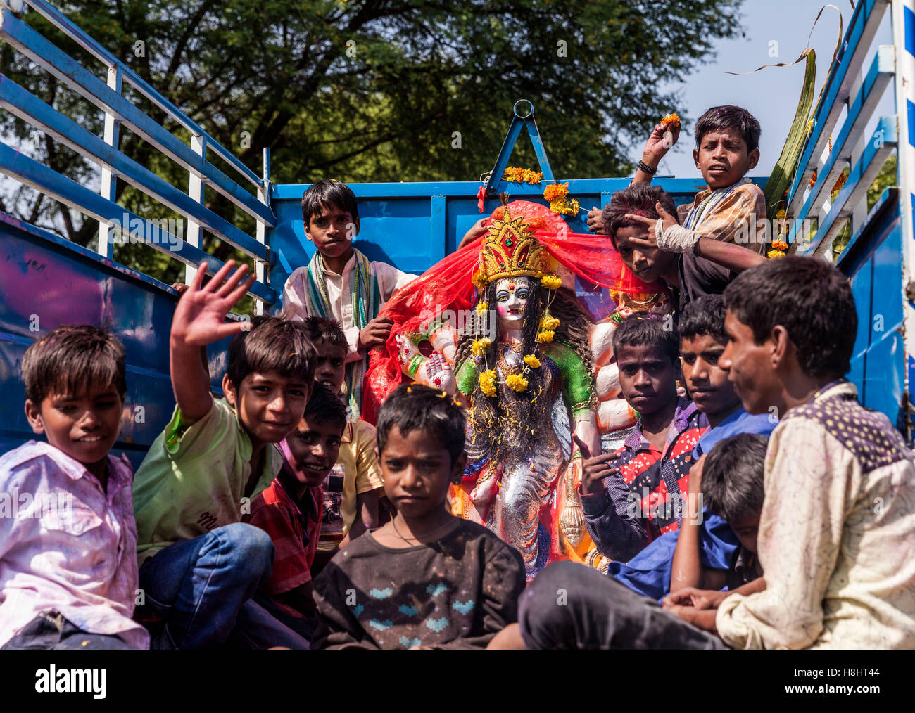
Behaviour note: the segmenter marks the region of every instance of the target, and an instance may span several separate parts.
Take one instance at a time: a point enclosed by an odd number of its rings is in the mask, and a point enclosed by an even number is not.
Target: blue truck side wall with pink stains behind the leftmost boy
[[[167,337],[176,296],[161,283],[42,232],[0,220],[0,447],[37,438],[25,418],[19,377],[27,346],[59,325],[107,325],[124,343],[127,360],[124,420],[115,452],[126,452],[136,467],[175,406]],[[227,346],[223,340],[208,349],[217,392]]]

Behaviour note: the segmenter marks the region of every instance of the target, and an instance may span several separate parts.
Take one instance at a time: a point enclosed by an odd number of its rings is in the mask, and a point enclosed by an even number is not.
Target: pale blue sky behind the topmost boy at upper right
[[[662,90],[680,90],[683,101],[675,111],[686,114],[690,120],[688,135],[664,157],[659,166],[658,176],[690,177],[696,175],[692,150],[694,122],[705,109],[719,104],[737,104],[752,112],[759,120],[762,135],[759,140],[759,165],[751,170],[751,176],[769,176],[778,160],[781,148],[788,137],[791,120],[797,110],[801,94],[801,83],[805,62],[792,67],[769,67],[753,74],[734,76],[727,71],[748,72],[764,64],[792,62],[798,58],[807,45],[807,36],[813,26],[823,2],[811,0],[745,0],[741,7],[744,17],[743,29],[746,37],[722,40],[716,45],[716,57],[689,75],[682,82],[672,83]],[[848,0],[834,0],[844,19],[843,32],[848,29],[852,7]],[[823,80],[833,57],[835,39],[838,35],[839,13],[832,7],[823,11],[823,16],[813,29],[810,47],[816,52],[816,89],[814,101],[819,96]],[[777,45],[770,45],[776,42]],[[877,44],[892,44],[889,13],[877,31]],[[770,47],[778,51],[778,57],[770,57]],[[864,63],[869,66],[872,53]],[[894,113],[892,83],[885,99],[877,107],[875,116]],[[876,123],[877,118],[871,123]],[[840,130],[837,127],[833,135]],[[646,137],[647,138],[647,137]],[[633,146],[630,160],[641,158],[642,145]]]

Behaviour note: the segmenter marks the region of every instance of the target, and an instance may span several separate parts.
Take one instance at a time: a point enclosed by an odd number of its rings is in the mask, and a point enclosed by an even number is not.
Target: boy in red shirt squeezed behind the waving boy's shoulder
[[[316,382],[296,431],[280,443],[283,469],[254,498],[251,514],[243,518],[274,542],[274,569],[257,601],[306,637],[315,610],[310,569],[321,530],[321,484],[337,463],[346,423],[346,406],[330,388]]]

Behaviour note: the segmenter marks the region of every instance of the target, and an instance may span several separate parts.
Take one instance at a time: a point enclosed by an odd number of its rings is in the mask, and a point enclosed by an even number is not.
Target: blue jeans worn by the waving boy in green
[[[156,552],[140,568],[142,609],[165,623],[153,647],[307,648],[304,638],[252,600],[273,565],[270,536],[244,523],[217,527]],[[149,614],[138,612],[138,618]]]

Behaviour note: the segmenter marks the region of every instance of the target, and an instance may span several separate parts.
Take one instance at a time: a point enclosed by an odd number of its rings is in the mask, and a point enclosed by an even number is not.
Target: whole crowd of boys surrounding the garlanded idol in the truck
[[[0,509],[0,646],[915,646],[913,454],[845,379],[850,287],[741,244],[765,215],[748,112],[697,122],[708,187],[679,209],[651,186],[677,131],[655,127],[632,185],[588,214],[630,271],[666,282],[658,311],[675,316],[619,324],[639,420],[617,451],[576,442],[607,574],[559,562],[525,586],[514,548],[450,514],[467,422],[447,393],[404,384],[377,432],[359,420],[368,352],[392,330],[382,305],[413,276],[353,248],[356,198],[326,180],[303,197],[316,253],[280,316],[226,322],[253,281],[232,261],[182,291],[175,411],[135,474],[111,453],[120,342],[61,326],[28,347],[45,440],[0,456],[0,492],[31,504]],[[227,336],[217,399],[202,352]]]

